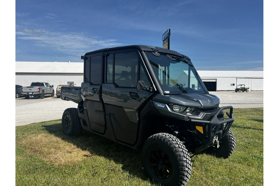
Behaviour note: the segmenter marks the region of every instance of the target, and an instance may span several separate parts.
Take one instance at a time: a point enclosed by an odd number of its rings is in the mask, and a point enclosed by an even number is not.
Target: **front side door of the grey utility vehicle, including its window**
[[[139,129],[139,111],[153,94],[138,92],[136,84],[144,81],[150,87],[143,61],[135,49],[108,51],[106,81],[102,99],[117,141],[135,144]]]

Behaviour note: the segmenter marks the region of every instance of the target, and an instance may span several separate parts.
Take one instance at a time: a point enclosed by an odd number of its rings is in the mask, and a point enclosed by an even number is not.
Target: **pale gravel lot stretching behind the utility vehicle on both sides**
[[[220,99],[220,107],[232,105],[233,108],[263,107],[263,91],[249,92],[210,92]],[[30,97],[15,99],[15,126],[61,119],[66,108],[77,108],[73,101],[46,96],[44,99]]]

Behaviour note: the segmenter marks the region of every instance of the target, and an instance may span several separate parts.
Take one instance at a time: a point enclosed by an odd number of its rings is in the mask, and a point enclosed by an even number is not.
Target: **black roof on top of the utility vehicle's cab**
[[[167,53],[167,54],[177,55],[177,56],[180,56],[182,58],[186,57],[188,60],[191,60],[188,56],[182,55],[182,54],[178,53],[177,51],[173,51],[173,50],[169,50],[169,49],[165,49],[165,48],[161,48],[161,47],[152,47],[152,46],[147,46],[147,45],[128,45],[128,46],[122,46],[122,47],[103,48],[103,49],[100,49],[100,50],[87,52],[85,55],[89,55],[89,54],[96,53],[96,52],[102,52],[102,51],[107,52],[107,51],[113,51],[113,50],[119,50],[119,49],[128,49],[128,48],[135,48],[139,51],[150,51],[150,52],[153,52],[154,50],[157,50],[159,53]]]

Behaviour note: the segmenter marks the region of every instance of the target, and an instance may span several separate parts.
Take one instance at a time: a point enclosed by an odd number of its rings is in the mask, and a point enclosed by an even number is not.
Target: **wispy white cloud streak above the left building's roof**
[[[84,54],[87,51],[121,45],[116,39],[92,37],[87,33],[62,33],[39,29],[24,29],[16,32],[16,36],[18,39],[34,43],[43,50],[51,49],[75,56]],[[37,49],[40,50],[40,48]]]

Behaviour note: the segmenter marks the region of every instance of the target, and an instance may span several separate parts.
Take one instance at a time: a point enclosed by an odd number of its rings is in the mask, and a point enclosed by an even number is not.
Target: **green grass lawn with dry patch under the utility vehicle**
[[[228,159],[192,157],[189,185],[263,185],[263,108],[234,109],[236,150]],[[191,154],[190,154],[191,155]],[[140,150],[83,131],[63,134],[61,120],[17,126],[15,183],[30,185],[159,185],[145,176]]]

